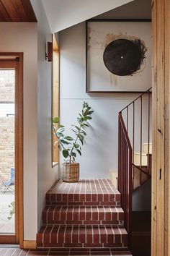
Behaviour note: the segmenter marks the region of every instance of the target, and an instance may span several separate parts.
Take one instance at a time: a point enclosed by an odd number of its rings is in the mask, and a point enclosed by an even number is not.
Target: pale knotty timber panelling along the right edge
[[[152,256],[170,255],[170,1],[152,1],[153,168]]]

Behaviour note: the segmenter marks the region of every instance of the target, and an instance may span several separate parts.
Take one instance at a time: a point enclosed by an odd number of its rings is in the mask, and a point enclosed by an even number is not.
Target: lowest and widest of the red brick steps
[[[128,234],[113,225],[42,226],[37,247],[127,247]]]

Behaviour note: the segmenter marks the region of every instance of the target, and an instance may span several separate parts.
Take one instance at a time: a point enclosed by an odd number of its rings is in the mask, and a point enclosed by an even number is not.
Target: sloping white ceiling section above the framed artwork
[[[42,0],[52,33],[89,20],[133,0]]]

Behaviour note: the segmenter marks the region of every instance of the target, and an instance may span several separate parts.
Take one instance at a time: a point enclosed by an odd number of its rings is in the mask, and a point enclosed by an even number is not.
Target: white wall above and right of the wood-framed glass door
[[[0,22],[1,52],[24,52],[24,240],[37,232],[37,23]]]

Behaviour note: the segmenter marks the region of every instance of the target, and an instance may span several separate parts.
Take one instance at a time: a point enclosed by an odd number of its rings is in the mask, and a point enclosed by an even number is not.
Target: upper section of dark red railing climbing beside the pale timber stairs
[[[123,119],[125,120],[125,129],[128,133],[128,137],[130,138],[130,142],[133,148],[133,167],[135,166],[140,171],[140,184],[142,185],[142,173],[147,172],[151,174],[151,150],[150,150],[150,142],[151,142],[151,93],[152,88],[149,88],[146,92],[142,93],[135,98],[134,101],[122,108],[119,114],[123,115]],[[143,102],[143,100],[147,102]],[[144,110],[143,110],[144,108]],[[138,111],[138,112],[137,112]],[[138,113],[138,121],[136,120],[136,116]],[[147,124],[144,123],[143,116],[147,120]],[[131,117],[131,119],[130,119]],[[139,125],[139,128],[137,127]],[[145,125],[144,125],[145,124]],[[131,132],[131,135],[130,135]],[[136,136],[138,135],[138,137]],[[145,135],[145,138],[144,138]],[[147,136],[146,136],[147,135]],[[143,165],[143,140],[146,140],[147,147],[147,163]],[[135,146],[138,147],[136,150]],[[139,163],[138,166],[135,164],[135,152],[139,152]],[[133,184],[134,184],[134,170],[133,168]],[[146,174],[147,175],[147,174]],[[151,175],[148,175],[151,176]],[[133,187],[135,189],[135,187]]]

